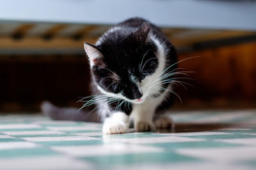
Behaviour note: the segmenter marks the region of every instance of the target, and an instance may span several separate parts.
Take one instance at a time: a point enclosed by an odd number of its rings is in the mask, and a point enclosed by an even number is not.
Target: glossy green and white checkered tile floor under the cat
[[[0,169],[256,169],[256,110],[172,113],[168,131],[0,116]]]

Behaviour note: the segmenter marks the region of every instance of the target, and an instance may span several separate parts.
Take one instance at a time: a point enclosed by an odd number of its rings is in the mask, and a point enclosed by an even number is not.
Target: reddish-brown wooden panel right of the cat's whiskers
[[[179,67],[195,71],[196,93],[207,97],[256,97],[256,43],[212,48],[193,53],[180,54],[186,57],[200,56],[180,62]]]

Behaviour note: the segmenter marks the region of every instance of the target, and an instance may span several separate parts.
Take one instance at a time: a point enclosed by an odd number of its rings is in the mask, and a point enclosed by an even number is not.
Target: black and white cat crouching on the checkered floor
[[[54,119],[104,122],[102,132],[120,134],[174,128],[164,113],[172,106],[177,73],[177,53],[163,32],[143,18],[130,18],[111,27],[95,43],[84,43],[90,61],[93,96],[84,97],[83,107],[92,111],[42,104]],[[91,115],[91,116],[90,116]],[[92,116],[93,115],[93,116]]]

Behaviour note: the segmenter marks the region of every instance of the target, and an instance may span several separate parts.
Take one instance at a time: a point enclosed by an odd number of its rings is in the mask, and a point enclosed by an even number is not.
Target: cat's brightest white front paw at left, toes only
[[[115,122],[109,121],[105,122],[102,128],[102,132],[104,134],[122,134],[127,132],[129,129],[129,124],[124,123],[122,121]]]

